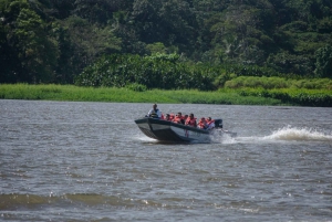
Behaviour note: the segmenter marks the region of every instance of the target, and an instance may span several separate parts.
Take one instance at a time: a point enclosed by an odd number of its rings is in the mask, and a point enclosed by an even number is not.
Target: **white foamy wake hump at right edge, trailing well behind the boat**
[[[270,136],[263,137],[263,139],[332,141],[332,134],[328,135],[312,128],[297,128],[287,126],[273,131]]]

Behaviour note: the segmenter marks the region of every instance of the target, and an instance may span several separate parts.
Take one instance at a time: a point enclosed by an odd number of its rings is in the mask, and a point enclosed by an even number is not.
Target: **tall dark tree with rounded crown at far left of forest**
[[[40,17],[30,9],[22,9],[13,33],[14,46],[24,70],[21,80],[34,83],[52,82],[59,52],[56,42],[44,32]]]

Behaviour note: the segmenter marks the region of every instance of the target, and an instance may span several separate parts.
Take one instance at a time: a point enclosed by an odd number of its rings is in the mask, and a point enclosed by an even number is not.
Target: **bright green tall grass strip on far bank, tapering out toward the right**
[[[1,84],[2,99],[44,99],[76,102],[123,102],[123,103],[188,103],[232,105],[281,105],[280,99],[242,96],[237,91],[144,91],[115,87],[79,87],[73,85]]]

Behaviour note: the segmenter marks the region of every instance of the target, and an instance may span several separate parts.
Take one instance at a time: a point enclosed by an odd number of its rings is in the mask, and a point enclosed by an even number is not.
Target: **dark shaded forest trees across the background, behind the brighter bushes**
[[[331,78],[331,0],[0,0],[0,83],[82,84],[112,54]]]

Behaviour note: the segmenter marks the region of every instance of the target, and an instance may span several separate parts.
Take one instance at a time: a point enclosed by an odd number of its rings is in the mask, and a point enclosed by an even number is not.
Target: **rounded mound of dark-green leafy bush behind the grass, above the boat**
[[[87,66],[75,80],[79,86],[115,86],[141,84],[147,88],[214,88],[207,66],[179,62],[177,54],[151,56],[112,54]]]

